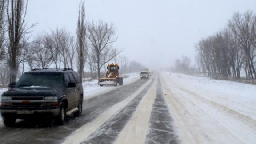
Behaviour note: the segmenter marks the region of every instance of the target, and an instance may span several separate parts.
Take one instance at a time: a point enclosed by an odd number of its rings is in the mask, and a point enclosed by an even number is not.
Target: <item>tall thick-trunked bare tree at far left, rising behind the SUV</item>
[[[16,82],[18,72],[18,55],[20,53],[20,40],[27,32],[25,16],[28,0],[7,0],[7,25],[9,36],[9,67],[10,81]]]

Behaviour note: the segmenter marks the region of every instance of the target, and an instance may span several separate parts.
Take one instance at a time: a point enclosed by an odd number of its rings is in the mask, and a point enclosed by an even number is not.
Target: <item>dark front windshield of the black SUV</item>
[[[64,85],[63,74],[61,73],[24,73],[17,82],[17,87],[61,87]]]

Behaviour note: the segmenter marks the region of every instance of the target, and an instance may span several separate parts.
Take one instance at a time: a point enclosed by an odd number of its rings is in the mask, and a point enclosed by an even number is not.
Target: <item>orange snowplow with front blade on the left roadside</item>
[[[103,85],[123,85],[123,78],[119,76],[118,64],[108,64],[106,78],[99,78],[98,84]]]

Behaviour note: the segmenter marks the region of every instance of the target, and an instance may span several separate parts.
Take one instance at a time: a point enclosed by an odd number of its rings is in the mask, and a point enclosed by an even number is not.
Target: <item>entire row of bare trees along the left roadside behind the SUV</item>
[[[26,24],[27,6],[28,0],[0,0],[1,85],[15,82],[25,65],[31,69],[77,68],[81,79],[87,68],[92,77],[100,78],[105,65],[122,52],[114,47],[115,25],[103,20],[87,21],[84,2],[79,4],[75,36],[66,28],[56,28],[29,38],[36,25]],[[128,64],[124,59],[122,63]]]

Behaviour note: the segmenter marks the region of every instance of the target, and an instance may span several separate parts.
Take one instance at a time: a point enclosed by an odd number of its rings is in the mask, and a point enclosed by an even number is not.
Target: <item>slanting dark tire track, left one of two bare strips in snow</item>
[[[111,144],[118,137],[119,133],[123,130],[125,124],[130,120],[137,106],[140,104],[141,99],[148,92],[152,86],[154,79],[144,88],[132,101],[130,101],[118,113],[109,118],[102,124],[95,132],[93,132],[87,140],[80,144]]]

